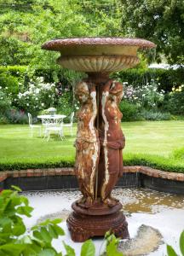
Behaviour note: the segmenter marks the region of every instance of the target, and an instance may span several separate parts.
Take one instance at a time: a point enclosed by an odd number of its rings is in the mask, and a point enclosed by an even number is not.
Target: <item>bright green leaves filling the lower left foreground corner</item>
[[[21,190],[3,190],[0,194],[0,254],[12,256],[53,255],[59,256],[52,247],[54,238],[64,235],[60,219],[47,219],[27,232],[21,216],[30,218],[33,208],[25,196],[18,195]]]

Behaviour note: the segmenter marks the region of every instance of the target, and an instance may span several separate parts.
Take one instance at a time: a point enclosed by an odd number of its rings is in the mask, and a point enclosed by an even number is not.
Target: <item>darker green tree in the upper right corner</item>
[[[183,0],[121,0],[124,33],[146,38],[157,44],[161,56],[171,64],[184,61]]]

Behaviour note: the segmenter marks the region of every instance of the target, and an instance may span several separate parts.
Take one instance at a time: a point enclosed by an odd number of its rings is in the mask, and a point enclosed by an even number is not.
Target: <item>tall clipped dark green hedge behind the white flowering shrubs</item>
[[[0,67],[1,73],[9,73],[14,77],[24,77],[27,74],[28,67],[26,66],[8,66]],[[47,82],[54,82],[55,76],[60,79],[63,84],[68,84],[68,79],[63,74],[63,69],[58,68],[58,70],[52,69],[37,69],[35,70],[36,76],[43,76]],[[72,76],[72,74],[71,74]],[[123,70],[118,73],[113,73],[112,78],[121,79],[123,82],[128,82],[136,86],[137,84],[147,84],[154,79],[159,83],[159,90],[170,91],[173,85],[181,85],[184,82],[184,68],[178,69],[161,69],[161,68],[132,68],[128,70]],[[69,79],[70,81],[72,80]]]

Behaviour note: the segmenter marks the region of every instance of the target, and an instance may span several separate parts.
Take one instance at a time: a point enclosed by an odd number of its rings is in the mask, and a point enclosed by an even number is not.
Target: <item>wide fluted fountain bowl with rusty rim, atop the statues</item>
[[[140,38],[65,38],[43,44],[43,49],[60,51],[57,63],[86,73],[112,73],[139,63],[137,49],[156,47]]]

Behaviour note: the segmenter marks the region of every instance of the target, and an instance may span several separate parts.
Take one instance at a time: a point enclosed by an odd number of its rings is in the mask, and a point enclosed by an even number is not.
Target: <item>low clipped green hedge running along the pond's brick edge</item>
[[[22,160],[21,162],[3,161],[0,163],[0,171],[60,168],[74,166],[74,158],[55,158],[42,161],[34,159],[30,162]],[[184,160],[177,160],[173,157],[166,158],[158,155],[149,154],[124,154],[124,166],[150,166],[167,172],[184,173]]]

